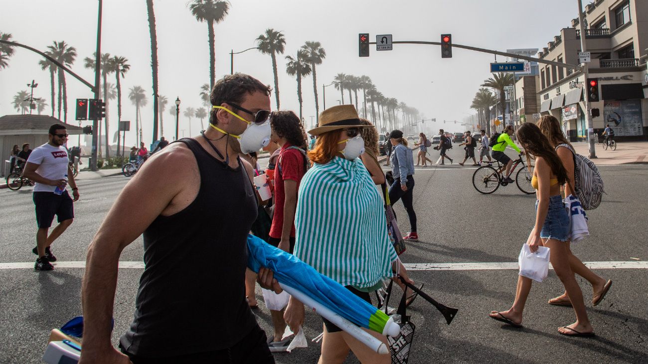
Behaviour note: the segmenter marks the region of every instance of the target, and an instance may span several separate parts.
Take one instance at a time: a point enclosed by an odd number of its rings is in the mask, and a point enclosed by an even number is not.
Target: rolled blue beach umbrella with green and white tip
[[[340,283],[322,275],[296,256],[277,249],[253,235],[248,235],[248,253],[249,269],[257,273],[260,267],[272,270],[275,279],[279,284],[286,286],[288,293],[291,293],[291,290],[299,291],[316,305],[325,307],[360,327],[383,335],[399,334],[399,324],[386,313],[354,295]],[[295,294],[295,297],[303,302],[298,295],[299,293]],[[313,304],[307,304],[316,308]],[[323,315],[324,312],[319,310],[318,313]]]

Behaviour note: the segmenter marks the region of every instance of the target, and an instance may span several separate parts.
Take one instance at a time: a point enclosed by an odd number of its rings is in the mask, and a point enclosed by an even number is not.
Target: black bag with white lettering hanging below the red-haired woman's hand
[[[389,296],[391,296],[392,286],[393,281],[389,282],[387,288],[387,297],[384,302],[385,313],[388,312]],[[414,341],[416,326],[410,321],[410,316],[406,313],[406,295],[407,292],[404,291],[396,312],[398,317],[395,317],[395,321],[400,325],[400,332],[397,336],[387,336],[389,352],[391,353],[391,363],[393,364],[407,364],[407,361],[410,359],[411,345]]]

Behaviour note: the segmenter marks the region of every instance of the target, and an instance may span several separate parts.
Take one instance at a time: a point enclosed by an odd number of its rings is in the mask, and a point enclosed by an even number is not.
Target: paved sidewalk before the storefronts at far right
[[[587,157],[590,154],[590,146],[586,142],[575,142],[572,144],[576,153]],[[648,142],[618,142],[616,150],[603,150],[603,143],[595,144],[596,165],[648,165]]]

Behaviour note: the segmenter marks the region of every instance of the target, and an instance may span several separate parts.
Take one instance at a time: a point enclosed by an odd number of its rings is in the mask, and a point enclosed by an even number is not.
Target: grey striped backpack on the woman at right
[[[558,144],[556,150],[561,146],[569,149],[573,155],[576,197],[581,201],[584,210],[596,209],[599,207],[605,192],[603,190],[603,178],[601,178],[598,168],[588,157],[577,154],[569,144]]]

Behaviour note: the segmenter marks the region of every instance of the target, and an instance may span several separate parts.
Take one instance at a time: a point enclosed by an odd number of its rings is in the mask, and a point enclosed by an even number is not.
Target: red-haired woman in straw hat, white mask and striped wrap
[[[393,271],[411,280],[389,240],[384,202],[358,158],[364,152],[361,128],[371,126],[360,122],[352,105],[341,105],[323,111],[318,128],[308,131],[318,138],[308,152],[313,166],[299,186],[294,254],[371,302],[369,293],[381,288]],[[304,320],[304,305],[290,297],[284,317],[296,332]],[[388,343],[386,336],[369,333]],[[341,363],[349,350],[362,363],[391,363],[389,354],[373,352],[324,320],[319,363]]]

